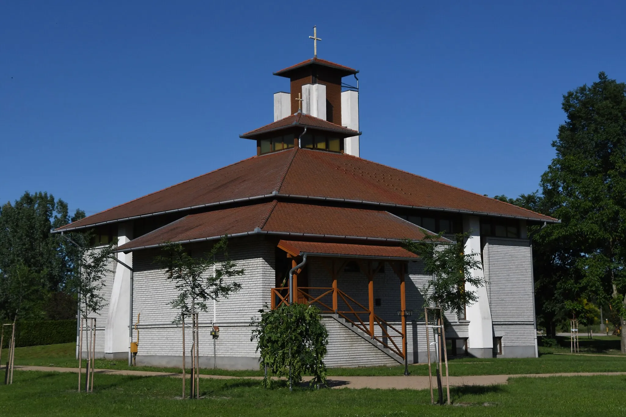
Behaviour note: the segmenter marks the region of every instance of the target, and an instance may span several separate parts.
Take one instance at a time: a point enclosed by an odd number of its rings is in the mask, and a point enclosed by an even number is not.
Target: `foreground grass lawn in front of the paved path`
[[[1,416],[624,416],[626,376],[516,378],[508,385],[451,388],[453,406],[428,390],[264,389],[259,381],[207,380],[203,398],[180,399],[177,378],[96,375],[76,392],[76,374],[16,371],[0,385]]]

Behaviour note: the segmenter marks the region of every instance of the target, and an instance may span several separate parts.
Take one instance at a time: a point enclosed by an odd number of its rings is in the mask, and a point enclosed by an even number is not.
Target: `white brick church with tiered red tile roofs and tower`
[[[200,313],[200,366],[258,369],[250,319],[290,302],[321,309],[327,366],[425,362],[430,277],[401,241],[440,232],[469,232],[466,251],[483,266],[473,274],[486,283],[476,303],[446,313],[449,356],[537,356],[527,228],[558,220],[360,158],[358,72],[317,54],[277,71],[289,91],[274,94],[272,123],[240,135],[256,145],[250,158],[56,230],[117,238],[132,269],[111,261],[96,356],[127,358],[141,314],[136,363],[180,366],[182,328],[167,304],[176,293],[155,256],[166,242],[204,253],[227,234],[242,289]]]

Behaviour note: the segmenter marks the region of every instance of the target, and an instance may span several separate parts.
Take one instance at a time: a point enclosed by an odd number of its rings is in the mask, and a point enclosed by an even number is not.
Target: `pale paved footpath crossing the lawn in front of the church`
[[[54,366],[15,366],[21,371],[53,371],[78,373],[78,368],[59,368]],[[85,369],[83,369],[83,373]],[[171,372],[130,371],[116,369],[96,369],[98,374],[135,375],[135,376],[174,376],[182,374]],[[626,375],[626,372],[580,372],[555,374],[513,374],[513,375],[475,375],[451,376],[450,386],[461,385],[500,385],[506,384],[509,378],[547,378],[550,376],[594,376],[594,375]],[[225,376],[200,374],[200,378],[211,379],[263,379],[262,376]],[[305,380],[309,378],[304,378]],[[433,382],[436,382],[433,379]],[[428,376],[329,376],[328,384],[332,388],[381,388],[381,389],[428,389]]]

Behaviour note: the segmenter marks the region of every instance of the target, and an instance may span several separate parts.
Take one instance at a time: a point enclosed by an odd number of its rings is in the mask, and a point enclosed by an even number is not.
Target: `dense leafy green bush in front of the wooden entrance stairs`
[[[302,381],[302,375],[313,375],[310,385],[326,384],[326,346],[328,332],[322,323],[320,310],[307,304],[282,305],[274,310],[259,310],[260,320],[253,321],[250,341],[257,340],[260,366],[279,378],[289,376],[294,383]],[[263,385],[272,379],[266,375]]]

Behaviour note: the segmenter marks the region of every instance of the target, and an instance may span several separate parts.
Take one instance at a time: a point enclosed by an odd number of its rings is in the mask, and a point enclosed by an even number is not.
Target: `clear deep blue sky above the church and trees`
[[[0,203],[93,214],[255,154],[273,71],[357,68],[361,156],[476,193],[538,188],[562,94],[626,81],[623,2],[4,2]]]

